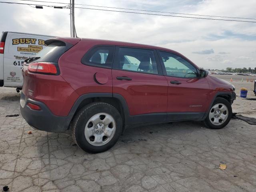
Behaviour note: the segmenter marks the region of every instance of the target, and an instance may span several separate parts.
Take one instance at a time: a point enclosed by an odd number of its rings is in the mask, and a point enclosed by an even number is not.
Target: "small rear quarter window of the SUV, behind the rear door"
[[[103,68],[112,68],[114,56],[113,46],[100,46],[93,48],[82,58],[82,64],[98,66]]]

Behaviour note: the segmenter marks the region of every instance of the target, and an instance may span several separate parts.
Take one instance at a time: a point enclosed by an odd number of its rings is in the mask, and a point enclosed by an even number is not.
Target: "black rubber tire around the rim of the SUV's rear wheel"
[[[85,137],[84,130],[88,120],[98,113],[110,114],[116,123],[116,130],[114,136],[111,140],[102,145],[94,146],[90,144]],[[122,118],[114,106],[104,103],[104,102],[94,102],[84,106],[74,117],[72,123],[70,124],[70,129],[72,132],[72,137],[74,142],[84,151],[89,153],[100,153],[110,149],[114,144],[116,144],[121,132],[122,132]]]

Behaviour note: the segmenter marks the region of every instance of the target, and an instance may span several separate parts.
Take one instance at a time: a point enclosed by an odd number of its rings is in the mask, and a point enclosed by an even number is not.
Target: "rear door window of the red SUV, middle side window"
[[[120,47],[117,58],[116,69],[158,74],[153,50]]]

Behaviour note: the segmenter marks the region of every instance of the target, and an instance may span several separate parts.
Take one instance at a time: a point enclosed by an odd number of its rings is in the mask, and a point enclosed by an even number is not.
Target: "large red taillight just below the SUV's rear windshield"
[[[34,62],[28,64],[28,71],[32,73],[52,74],[56,75],[58,70],[54,63]]]

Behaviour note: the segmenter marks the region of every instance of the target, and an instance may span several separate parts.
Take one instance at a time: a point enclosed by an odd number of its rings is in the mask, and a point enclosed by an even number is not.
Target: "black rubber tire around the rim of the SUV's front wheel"
[[[206,127],[210,128],[210,129],[221,129],[221,128],[225,127],[230,122],[230,119],[232,118],[232,107],[231,107],[230,102],[228,102],[224,98],[216,98],[214,100],[211,108],[218,103],[226,105],[226,107],[228,108],[228,117],[224,123],[222,123],[220,125],[215,125],[211,122],[211,120],[209,118],[209,114],[210,114],[210,111],[209,111],[207,114],[207,117],[204,120],[204,124]]]

